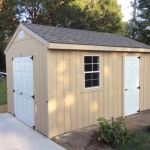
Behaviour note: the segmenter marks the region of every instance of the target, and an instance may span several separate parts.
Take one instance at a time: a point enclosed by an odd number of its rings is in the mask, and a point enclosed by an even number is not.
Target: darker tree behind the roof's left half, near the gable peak
[[[86,14],[73,2],[74,0],[25,0],[22,14],[25,14],[25,22],[85,29]]]

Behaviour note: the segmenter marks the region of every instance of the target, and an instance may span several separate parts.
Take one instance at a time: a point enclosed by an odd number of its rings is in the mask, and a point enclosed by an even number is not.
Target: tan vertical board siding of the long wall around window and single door
[[[101,56],[100,89],[84,90],[83,56]],[[124,116],[124,57],[140,58],[140,110],[150,108],[150,54],[48,50],[49,137]]]

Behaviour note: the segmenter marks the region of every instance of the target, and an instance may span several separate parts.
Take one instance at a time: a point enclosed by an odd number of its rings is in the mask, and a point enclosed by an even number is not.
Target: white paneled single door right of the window
[[[139,57],[125,57],[125,116],[139,111]]]

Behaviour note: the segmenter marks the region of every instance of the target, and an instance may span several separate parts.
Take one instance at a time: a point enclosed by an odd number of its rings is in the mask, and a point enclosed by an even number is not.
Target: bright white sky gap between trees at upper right
[[[131,7],[130,2],[134,0],[118,0],[118,4],[122,6],[123,21],[128,21],[131,18],[131,12],[133,7]]]

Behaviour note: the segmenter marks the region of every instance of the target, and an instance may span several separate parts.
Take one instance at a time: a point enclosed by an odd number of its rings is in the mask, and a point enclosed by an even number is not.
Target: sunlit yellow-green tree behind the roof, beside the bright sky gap
[[[121,34],[124,27],[122,23],[123,16],[116,1],[93,0],[86,3],[89,30]]]

